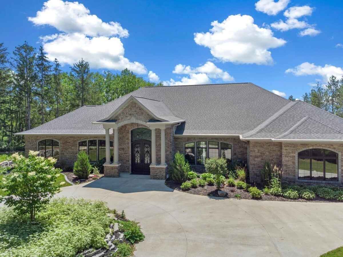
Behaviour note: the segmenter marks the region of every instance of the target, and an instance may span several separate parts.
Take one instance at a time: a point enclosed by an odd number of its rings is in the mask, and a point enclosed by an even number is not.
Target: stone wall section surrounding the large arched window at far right
[[[306,148],[328,148],[336,150],[342,154],[343,144],[282,144],[282,171],[283,180],[289,182],[295,182],[298,175],[298,169],[295,166],[296,152],[300,150],[305,150]],[[340,160],[339,160],[340,162]],[[342,162],[341,162],[342,170]],[[341,174],[341,183],[343,181],[343,176]],[[300,181],[299,181],[300,182]],[[318,183],[316,181],[311,181],[312,183]]]

